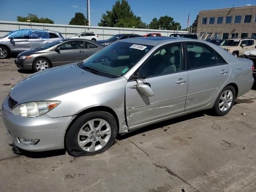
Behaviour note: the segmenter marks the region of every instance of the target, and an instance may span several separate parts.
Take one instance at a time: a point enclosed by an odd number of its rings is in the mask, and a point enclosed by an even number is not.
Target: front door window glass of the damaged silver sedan
[[[182,70],[181,44],[160,48],[140,68],[140,76],[150,77],[170,74]]]

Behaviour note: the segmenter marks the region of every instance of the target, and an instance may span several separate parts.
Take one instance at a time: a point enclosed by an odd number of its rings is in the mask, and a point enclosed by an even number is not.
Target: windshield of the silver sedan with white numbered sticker
[[[148,45],[116,42],[78,63],[78,67],[100,76],[117,78],[126,74],[151,48]]]

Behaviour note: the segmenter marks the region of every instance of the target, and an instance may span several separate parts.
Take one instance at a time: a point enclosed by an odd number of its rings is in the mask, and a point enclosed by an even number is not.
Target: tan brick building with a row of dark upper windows
[[[199,11],[198,39],[256,38],[256,5]]]

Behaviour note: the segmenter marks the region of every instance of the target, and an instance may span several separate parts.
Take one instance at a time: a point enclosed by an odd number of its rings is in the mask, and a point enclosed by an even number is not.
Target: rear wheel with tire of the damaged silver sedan
[[[216,115],[226,115],[234,105],[236,91],[233,86],[226,86],[215,101],[213,110]]]

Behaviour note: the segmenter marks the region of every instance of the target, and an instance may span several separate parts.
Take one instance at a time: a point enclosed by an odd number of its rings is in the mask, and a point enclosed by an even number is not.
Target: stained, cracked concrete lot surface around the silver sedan
[[[31,73],[18,71],[13,60],[0,60],[1,104]],[[74,158],[64,150],[14,154],[0,117],[0,191],[254,192],[255,119],[251,90],[226,116],[175,118],[120,136],[101,154]]]

